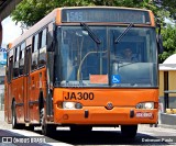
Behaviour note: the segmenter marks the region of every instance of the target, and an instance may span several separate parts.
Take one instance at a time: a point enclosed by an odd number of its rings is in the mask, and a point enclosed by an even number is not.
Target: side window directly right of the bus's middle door
[[[38,34],[36,34],[33,37],[32,41],[33,47],[32,47],[32,70],[37,69],[37,56],[38,56]]]

